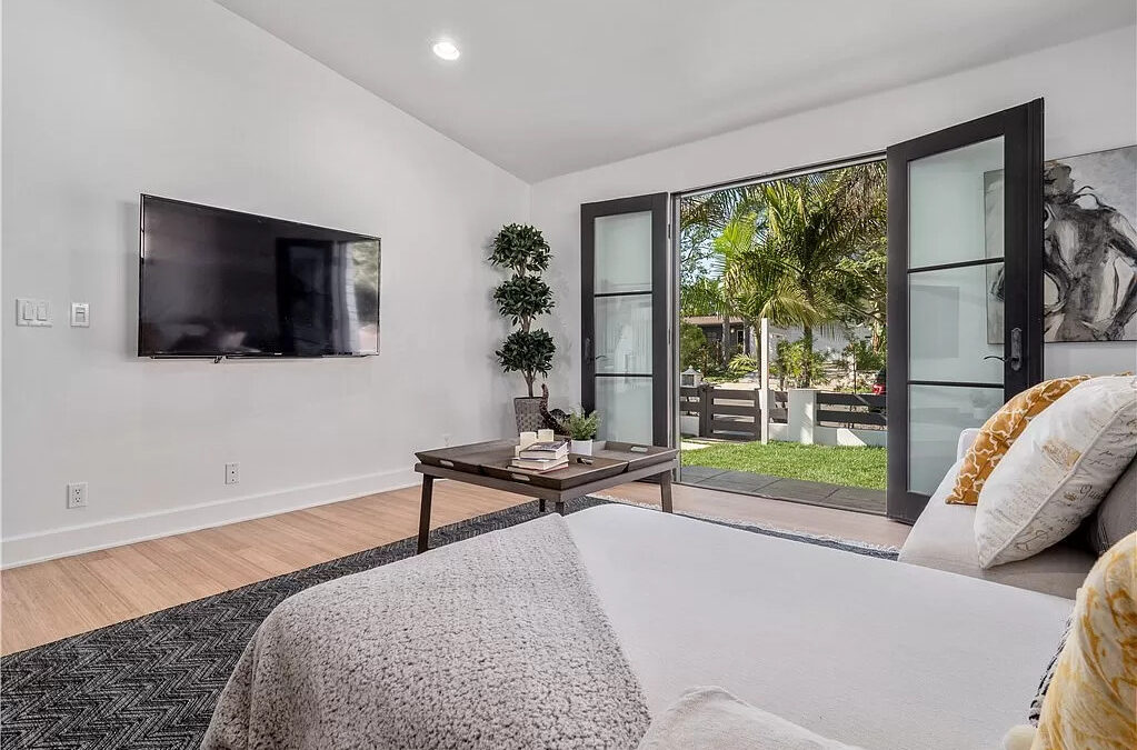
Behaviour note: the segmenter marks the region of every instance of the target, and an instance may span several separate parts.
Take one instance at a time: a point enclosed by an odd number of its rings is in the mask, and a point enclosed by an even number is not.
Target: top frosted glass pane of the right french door
[[[908,266],[1003,257],[1003,138],[908,164]]]

